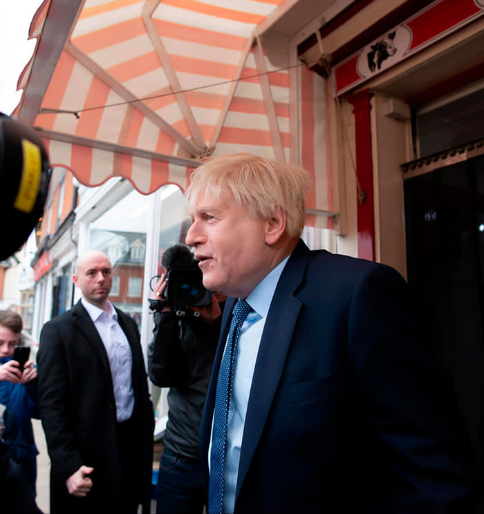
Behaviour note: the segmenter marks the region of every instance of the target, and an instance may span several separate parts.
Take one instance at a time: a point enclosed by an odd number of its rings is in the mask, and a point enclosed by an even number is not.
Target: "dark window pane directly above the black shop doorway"
[[[414,122],[418,157],[484,137],[483,116],[483,83],[420,108]]]

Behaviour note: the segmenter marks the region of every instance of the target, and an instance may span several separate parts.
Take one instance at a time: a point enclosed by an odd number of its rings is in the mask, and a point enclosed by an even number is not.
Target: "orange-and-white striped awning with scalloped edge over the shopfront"
[[[295,51],[274,66],[261,38],[288,3],[44,0],[14,114],[89,186],[122,175],[140,193],[185,189],[203,160],[240,151],[301,164],[315,184],[308,222],[327,226],[331,92]]]

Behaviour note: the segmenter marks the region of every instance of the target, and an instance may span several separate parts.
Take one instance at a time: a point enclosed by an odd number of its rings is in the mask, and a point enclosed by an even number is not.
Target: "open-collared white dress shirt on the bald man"
[[[128,339],[118,323],[118,314],[112,303],[108,302],[109,312],[106,312],[84,298],[81,301],[89,317],[93,320],[108,354],[116,403],[116,419],[118,422],[126,421],[133,414],[134,408],[133,383],[131,380],[133,355]]]

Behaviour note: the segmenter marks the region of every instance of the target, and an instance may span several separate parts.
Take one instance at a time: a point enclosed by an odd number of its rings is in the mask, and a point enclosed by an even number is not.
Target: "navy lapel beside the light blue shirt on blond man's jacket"
[[[259,443],[281,379],[302,305],[301,301],[294,296],[294,292],[301,283],[309,258],[308,247],[304,245],[304,242],[299,241],[299,245],[292,252],[283,269],[270,304],[266,325],[261,336],[261,345],[257,354],[245,416],[236,498]]]

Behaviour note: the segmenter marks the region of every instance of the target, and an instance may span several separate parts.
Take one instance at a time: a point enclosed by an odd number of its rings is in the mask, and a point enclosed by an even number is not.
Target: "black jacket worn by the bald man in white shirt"
[[[149,513],[153,459],[153,407],[136,322],[116,309],[133,355],[133,419]],[[122,512],[120,452],[109,360],[94,323],[81,302],[46,323],[39,352],[39,408],[50,470],[50,513]],[[68,495],[66,479],[82,465],[94,468],[93,488],[85,498]]]

